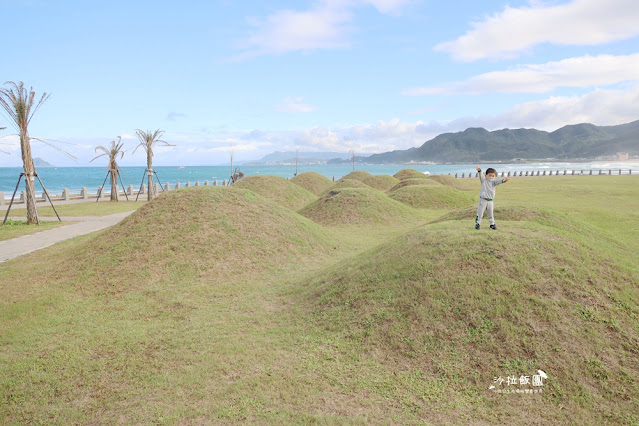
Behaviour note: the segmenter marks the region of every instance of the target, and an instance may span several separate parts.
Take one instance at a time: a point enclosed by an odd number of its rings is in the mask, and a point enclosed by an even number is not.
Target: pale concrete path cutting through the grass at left
[[[135,210],[116,213],[109,216],[96,217],[64,217],[64,222],[75,222],[58,228],[24,235],[11,240],[0,241],[0,263],[14,259],[23,254],[52,246],[60,241],[68,240],[80,235],[99,231],[113,226]],[[24,218],[12,218],[24,220]],[[57,218],[40,218],[40,220],[58,220]],[[0,222],[2,223],[2,222]]]

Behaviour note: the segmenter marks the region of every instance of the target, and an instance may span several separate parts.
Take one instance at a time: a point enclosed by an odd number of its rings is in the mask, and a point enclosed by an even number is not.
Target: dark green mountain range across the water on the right
[[[617,126],[576,124],[554,132],[536,129],[488,131],[469,128],[463,132],[443,133],[422,146],[368,157],[365,163],[406,162],[480,162],[513,159],[594,159],[623,152],[639,154],[639,120]],[[335,159],[331,163],[347,162]]]

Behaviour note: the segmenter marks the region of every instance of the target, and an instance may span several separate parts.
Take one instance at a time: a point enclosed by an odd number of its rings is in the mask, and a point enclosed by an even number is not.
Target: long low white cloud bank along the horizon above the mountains
[[[556,130],[567,124],[583,122],[596,125],[615,125],[639,119],[639,84],[624,89],[596,89],[582,96],[552,96],[534,102],[522,103],[495,114],[462,117],[452,121],[402,121],[382,120],[343,127],[312,127],[301,131],[216,130],[209,133],[167,133],[165,140],[174,147],[158,147],[154,164],[163,165],[211,165],[227,163],[232,145],[235,161],[256,160],[273,151],[334,151],[368,155],[396,149],[408,149],[422,145],[427,140],[444,133],[463,131],[468,127],[484,127],[488,130],[502,128],[537,128]],[[5,141],[8,138],[3,139]],[[109,137],[73,140],[70,150],[78,162],[68,160],[43,144],[34,145],[34,156],[39,156],[57,166],[89,165],[95,156],[94,147],[103,145]],[[19,150],[17,139],[9,139],[9,145]],[[128,145],[131,148],[133,144]],[[122,166],[140,166],[146,161],[144,152],[127,152],[120,162]],[[0,165],[19,166],[19,155],[0,155]],[[91,164],[95,165],[95,164]]]

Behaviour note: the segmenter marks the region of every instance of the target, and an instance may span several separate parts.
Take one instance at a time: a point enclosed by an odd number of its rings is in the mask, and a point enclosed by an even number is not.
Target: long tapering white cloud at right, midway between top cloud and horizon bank
[[[557,87],[605,86],[639,79],[639,53],[582,56],[494,71],[440,87],[405,89],[409,96],[480,93],[544,93]]]

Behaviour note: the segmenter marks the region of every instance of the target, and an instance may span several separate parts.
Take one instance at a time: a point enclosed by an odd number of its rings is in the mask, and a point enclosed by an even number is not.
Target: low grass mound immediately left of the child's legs
[[[460,208],[474,202],[465,192],[449,186],[411,185],[390,192],[389,197],[418,209]]]

